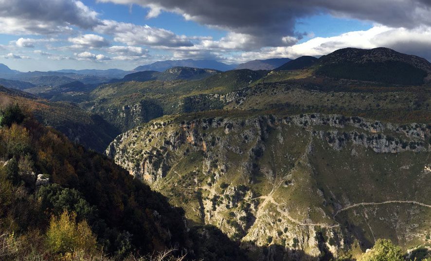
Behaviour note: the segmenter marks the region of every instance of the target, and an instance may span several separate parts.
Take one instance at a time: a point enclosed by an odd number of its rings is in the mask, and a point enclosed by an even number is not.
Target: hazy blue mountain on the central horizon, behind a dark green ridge
[[[222,62],[217,62],[216,60],[167,60],[167,61],[158,61],[148,65],[142,65],[136,67],[133,72],[142,72],[142,71],[157,71],[163,72],[172,67],[193,67],[193,68],[208,68],[214,69],[218,71],[229,71],[233,70],[237,65],[236,64],[225,64]]]

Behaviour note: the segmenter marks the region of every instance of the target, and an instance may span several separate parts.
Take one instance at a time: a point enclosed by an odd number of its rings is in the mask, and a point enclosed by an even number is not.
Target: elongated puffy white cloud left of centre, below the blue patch
[[[148,25],[103,20],[103,24],[96,26],[94,31],[100,34],[112,35],[114,36],[114,41],[127,45],[193,46],[193,43],[185,36],[177,36],[169,30]]]

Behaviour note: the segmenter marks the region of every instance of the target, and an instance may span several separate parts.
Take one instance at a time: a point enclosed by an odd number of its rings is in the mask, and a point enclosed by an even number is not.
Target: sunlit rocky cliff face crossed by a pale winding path
[[[430,129],[324,114],[171,116],[121,134],[106,154],[246,248],[316,257],[382,237],[426,241]]]

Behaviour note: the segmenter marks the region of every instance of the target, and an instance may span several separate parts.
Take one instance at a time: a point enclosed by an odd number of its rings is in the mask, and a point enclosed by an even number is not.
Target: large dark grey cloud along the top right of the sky
[[[147,18],[162,10],[187,20],[253,38],[255,49],[289,46],[304,32],[296,32],[296,20],[322,13],[375,21],[390,27],[431,25],[430,0],[98,0],[140,4],[149,8]]]

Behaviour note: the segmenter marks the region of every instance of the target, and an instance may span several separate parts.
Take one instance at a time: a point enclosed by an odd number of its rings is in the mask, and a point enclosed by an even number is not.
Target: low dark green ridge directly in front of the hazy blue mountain
[[[133,73],[124,76],[121,80],[111,80],[111,82],[120,81],[138,81],[145,82],[151,80],[161,80],[161,81],[172,81],[172,80],[198,80],[209,77],[220,73],[220,71],[213,69],[200,69],[200,68],[190,68],[190,67],[173,67],[167,69],[164,72],[157,71],[144,71]]]

